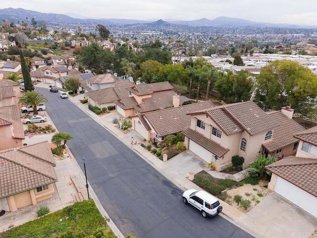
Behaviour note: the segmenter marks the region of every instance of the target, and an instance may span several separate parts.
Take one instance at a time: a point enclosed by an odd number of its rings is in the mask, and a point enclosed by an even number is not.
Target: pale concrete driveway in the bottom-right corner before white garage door
[[[239,222],[252,230],[261,229],[263,237],[308,238],[317,230],[317,219],[276,192],[269,194]]]

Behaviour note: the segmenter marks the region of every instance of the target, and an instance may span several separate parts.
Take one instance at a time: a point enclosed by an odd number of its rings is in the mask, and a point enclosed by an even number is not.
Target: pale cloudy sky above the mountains
[[[219,16],[317,25],[317,0],[1,0],[0,8],[76,13],[89,18],[197,20]]]

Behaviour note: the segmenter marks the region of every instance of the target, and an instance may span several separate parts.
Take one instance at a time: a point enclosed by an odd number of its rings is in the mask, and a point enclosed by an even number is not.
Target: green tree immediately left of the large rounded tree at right
[[[241,70],[234,75],[232,96],[235,102],[249,101],[253,92],[254,76],[248,70]]]

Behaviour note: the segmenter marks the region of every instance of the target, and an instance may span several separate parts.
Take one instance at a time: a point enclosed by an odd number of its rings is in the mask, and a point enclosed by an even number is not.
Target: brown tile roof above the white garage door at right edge
[[[317,160],[288,156],[265,167],[268,171],[289,181],[317,197]]]

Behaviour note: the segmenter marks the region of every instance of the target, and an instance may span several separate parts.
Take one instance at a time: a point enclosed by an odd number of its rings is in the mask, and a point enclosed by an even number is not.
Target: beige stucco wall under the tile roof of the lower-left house
[[[49,184],[49,189],[37,192],[36,188],[31,189],[25,192],[21,192],[6,198],[9,209],[11,212],[16,211],[17,209],[27,206],[27,205],[36,205],[39,201],[51,198],[54,193],[53,183]]]

